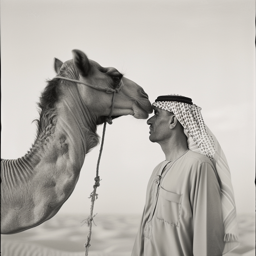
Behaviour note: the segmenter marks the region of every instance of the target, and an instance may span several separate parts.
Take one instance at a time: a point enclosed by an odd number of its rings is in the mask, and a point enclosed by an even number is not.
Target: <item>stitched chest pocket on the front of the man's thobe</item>
[[[182,195],[160,187],[156,217],[171,225],[179,226]]]

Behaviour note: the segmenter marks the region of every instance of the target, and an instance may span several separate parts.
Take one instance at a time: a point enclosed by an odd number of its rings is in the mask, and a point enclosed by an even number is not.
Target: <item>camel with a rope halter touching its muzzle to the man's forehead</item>
[[[112,118],[139,119],[152,113],[142,87],[80,50],[72,53],[64,63],[55,58],[57,76],[41,94],[32,148],[21,158],[1,160],[1,234],[38,226],[60,210],[76,186],[85,155],[99,142],[97,125],[110,112]]]

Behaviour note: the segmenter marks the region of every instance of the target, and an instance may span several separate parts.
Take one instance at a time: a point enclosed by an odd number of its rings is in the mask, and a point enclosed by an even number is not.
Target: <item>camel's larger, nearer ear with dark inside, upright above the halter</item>
[[[88,76],[91,65],[87,56],[80,50],[72,50],[73,62],[81,76]]]

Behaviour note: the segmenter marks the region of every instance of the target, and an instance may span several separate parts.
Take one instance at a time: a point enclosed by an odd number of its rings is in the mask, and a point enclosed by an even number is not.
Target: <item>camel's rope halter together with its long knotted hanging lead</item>
[[[63,80],[68,80],[68,81],[76,82],[76,83],[79,83],[79,84],[85,84],[85,85],[87,85],[91,88],[94,88],[96,90],[105,91],[106,93],[113,93],[111,110],[110,110],[110,113],[109,113],[108,117],[106,117],[106,119],[105,119],[104,127],[103,127],[102,140],[101,140],[101,145],[100,145],[100,154],[99,154],[99,157],[98,157],[97,168],[96,168],[96,177],[94,178],[95,184],[93,185],[93,191],[92,191],[92,193],[90,194],[90,197],[89,197],[89,198],[92,198],[91,199],[92,205],[91,205],[91,210],[90,210],[90,216],[86,220],[86,222],[89,226],[89,231],[88,231],[88,234],[87,234],[86,243],[84,244],[85,255],[88,256],[88,250],[89,250],[89,247],[90,247],[90,240],[91,240],[91,234],[92,234],[92,221],[93,221],[93,218],[95,216],[95,215],[92,216],[94,201],[98,198],[98,194],[96,194],[96,189],[97,189],[98,186],[100,186],[100,176],[98,174],[99,174],[100,157],[101,157],[101,154],[102,154],[104,136],[105,136],[105,132],[106,132],[106,123],[108,122],[108,124],[112,124],[111,116],[112,116],[113,111],[114,111],[116,93],[120,92],[121,87],[124,85],[124,83],[121,80],[119,86],[115,89],[112,89],[112,88],[109,88],[109,87],[100,87],[98,85],[88,84],[88,83],[83,82],[83,81],[79,81],[79,80],[75,80],[75,79],[71,79],[71,78],[67,78],[67,77],[63,77],[63,76],[55,76],[55,78],[60,78],[60,79],[63,79]]]

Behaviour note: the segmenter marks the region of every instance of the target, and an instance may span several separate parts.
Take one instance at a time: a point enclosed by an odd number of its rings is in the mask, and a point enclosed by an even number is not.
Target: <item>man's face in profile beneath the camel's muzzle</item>
[[[170,138],[172,130],[170,129],[171,116],[168,111],[161,108],[153,107],[154,116],[148,119],[147,124],[150,125],[149,139],[152,142],[162,142]]]

